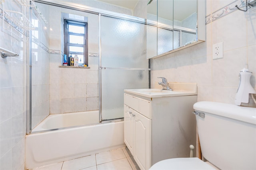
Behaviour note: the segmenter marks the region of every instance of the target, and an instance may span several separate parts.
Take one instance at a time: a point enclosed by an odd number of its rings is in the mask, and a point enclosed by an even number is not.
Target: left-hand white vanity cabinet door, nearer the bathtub
[[[133,154],[133,122],[132,109],[124,105],[124,143]]]

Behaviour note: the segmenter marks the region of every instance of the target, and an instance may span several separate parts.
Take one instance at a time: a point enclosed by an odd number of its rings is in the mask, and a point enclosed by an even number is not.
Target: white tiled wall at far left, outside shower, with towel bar
[[[18,3],[5,1],[4,5],[5,9],[22,12]],[[0,4],[1,9],[2,7],[3,4]],[[20,54],[6,59],[0,57],[0,169],[24,170],[26,43],[22,41],[21,33],[12,26],[2,19],[0,23],[0,47]],[[12,33],[16,35],[12,36]]]

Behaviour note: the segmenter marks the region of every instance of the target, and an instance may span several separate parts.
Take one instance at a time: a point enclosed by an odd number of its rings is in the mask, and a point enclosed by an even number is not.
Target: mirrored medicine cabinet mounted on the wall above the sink
[[[147,59],[205,41],[204,0],[149,0]]]

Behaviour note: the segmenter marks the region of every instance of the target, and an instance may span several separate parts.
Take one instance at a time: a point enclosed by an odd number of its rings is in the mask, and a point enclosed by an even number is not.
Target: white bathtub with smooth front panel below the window
[[[90,122],[90,125],[83,126],[81,121],[76,119],[79,117],[81,119],[87,113],[80,116],[76,113],[50,115],[36,126],[32,132],[55,130],[26,135],[25,168],[33,169],[125,147],[123,121],[94,124]],[[67,123],[67,119],[74,121]],[[76,127],[67,128],[70,125],[76,125]]]

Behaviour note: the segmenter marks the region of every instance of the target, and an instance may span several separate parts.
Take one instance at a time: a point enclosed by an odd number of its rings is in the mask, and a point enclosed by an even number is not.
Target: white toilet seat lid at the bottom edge
[[[213,166],[200,160],[199,158],[172,158],[161,160],[150,170],[216,170]]]

